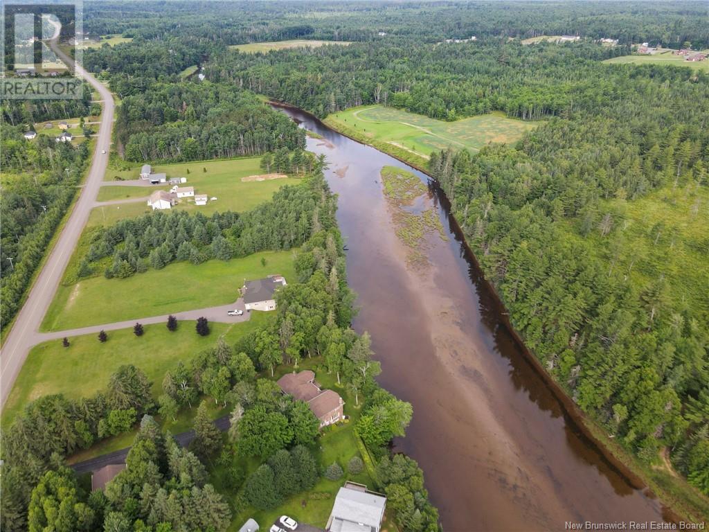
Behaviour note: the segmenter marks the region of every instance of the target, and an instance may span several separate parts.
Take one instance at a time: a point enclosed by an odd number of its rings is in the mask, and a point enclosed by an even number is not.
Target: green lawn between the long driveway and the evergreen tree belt
[[[247,257],[210,260],[201,265],[174,262],[128,279],[103,275],[61,284],[42,323],[43,331],[113,323],[236,301],[244,279],[279,273],[296,277],[293,251],[264,251]],[[261,265],[265,258],[267,264]]]

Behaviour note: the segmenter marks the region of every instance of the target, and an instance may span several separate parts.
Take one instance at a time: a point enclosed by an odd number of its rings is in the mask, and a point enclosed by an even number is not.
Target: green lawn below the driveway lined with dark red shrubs
[[[199,336],[194,323],[182,321],[174,333],[164,324],[146,325],[145,334],[136,337],[133,329],[108,333],[101,343],[96,335],[69,338],[68,348],[62,340],[41,343],[30,351],[8,397],[2,422],[10,423],[28,402],[47,394],[65,394],[77,399],[89,397],[108,385],[108,377],[123,364],[133,364],[152,380],[157,397],[162,390],[162,377],[178,360],[211,347],[225,335],[228,343],[254,331],[272,319],[272,315],[254,312],[242,323],[210,323],[209,336]],[[125,446],[125,445],[123,445]],[[119,447],[120,448],[120,447]]]

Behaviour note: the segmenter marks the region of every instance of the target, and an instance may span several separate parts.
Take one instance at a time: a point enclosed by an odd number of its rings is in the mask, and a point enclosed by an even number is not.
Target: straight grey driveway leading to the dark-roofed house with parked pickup
[[[251,319],[250,312],[244,312],[244,314],[242,314],[241,316],[229,316],[227,312],[233,309],[239,309],[241,311],[244,311],[244,301],[239,298],[237,301],[235,301],[235,303],[220,306],[209,306],[206,309],[174,312],[172,315],[175,316],[179,321],[195,322],[197,318],[201,318],[202,316],[207,318],[208,321],[213,321],[216,323],[241,323],[242,321],[249,321]],[[72,336],[81,336],[82,334],[98,334],[100,331],[117,331],[118,329],[133,327],[133,325],[135,325],[135,323],[138,321],[143,325],[152,325],[153,323],[167,323],[168,316],[169,314],[163,314],[162,316],[150,316],[147,318],[135,318],[132,320],[114,321],[113,323],[103,323],[101,325],[91,325],[88,327],[67,329],[66,331],[35,333],[35,335],[33,336],[33,341],[34,343],[40,343],[46,342],[48,340],[57,340],[58,338],[71,338]],[[189,327],[189,324],[183,324],[182,326]]]

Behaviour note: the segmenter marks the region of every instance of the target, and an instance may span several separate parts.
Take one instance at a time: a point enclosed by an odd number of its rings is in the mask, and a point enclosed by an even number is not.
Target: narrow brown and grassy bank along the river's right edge
[[[680,521],[705,522],[705,519],[707,519],[707,517],[701,516],[701,509],[696,508],[693,504],[689,504],[689,506],[691,507],[688,507],[686,502],[680,501],[676,499],[676,497],[672,496],[666,489],[661,487],[658,482],[654,480],[654,478],[652,478],[649,471],[645,470],[644,467],[637,462],[635,456],[633,456],[629,451],[625,450],[625,448],[623,448],[621,445],[611,440],[608,433],[605,431],[605,428],[603,428],[603,426],[601,426],[598,421],[591,418],[591,416],[582,411],[579,406],[574,403],[574,401],[571,399],[571,397],[569,397],[569,394],[566,393],[566,390],[562,387],[562,385],[559,384],[559,382],[557,382],[556,380],[554,380],[551,375],[549,375],[545,368],[542,367],[542,364],[537,358],[537,356],[527,348],[522,336],[520,335],[520,333],[518,333],[518,331],[515,330],[513,324],[511,323],[507,309],[504,306],[503,301],[500,298],[497,290],[495,289],[493,284],[491,284],[491,282],[486,279],[484,275],[484,270],[481,269],[473,250],[467,243],[467,240],[464,237],[464,233],[462,232],[462,229],[459,226],[457,218],[455,218],[454,213],[451,210],[450,200],[447,198],[445,192],[443,192],[443,190],[441,189],[440,184],[438,184],[438,182],[430,176],[427,168],[425,168],[420,162],[407,160],[405,157],[403,157],[403,155],[399,155],[393,149],[386,149],[387,147],[393,148],[392,146],[387,145],[386,143],[381,143],[381,146],[379,146],[377,145],[379,143],[370,143],[363,140],[363,138],[359,138],[359,135],[355,136],[350,134],[348,128],[342,127],[339,123],[335,123],[335,121],[328,120],[327,118],[322,121],[318,117],[314,116],[312,113],[304,111],[303,109],[300,109],[297,106],[287,104],[286,102],[274,101],[272,99],[269,99],[267,103],[272,106],[282,107],[284,109],[294,109],[296,111],[306,113],[308,116],[311,116],[312,118],[316,119],[324,126],[332,129],[337,133],[340,133],[340,135],[344,135],[345,137],[350,138],[351,140],[354,140],[359,144],[368,145],[376,150],[379,150],[385,153],[386,155],[389,155],[390,157],[393,157],[396,160],[403,162],[404,164],[415,168],[415,170],[418,170],[419,172],[422,172],[423,174],[427,175],[430,178],[430,183],[432,184],[432,187],[435,190],[435,194],[441,201],[444,213],[447,214],[447,218],[449,223],[451,224],[452,231],[456,235],[459,242],[464,246],[466,258],[471,262],[472,265],[474,265],[476,270],[480,273],[481,278],[484,280],[487,289],[489,289],[490,293],[493,295],[496,311],[498,311],[498,314],[503,316],[502,321],[508,329],[510,336],[512,336],[512,338],[515,340],[515,343],[518,344],[520,350],[524,353],[525,360],[527,360],[527,362],[530,364],[532,370],[534,370],[537,375],[540,376],[542,382],[545,384],[545,386],[547,386],[554,398],[557,399],[557,401],[559,401],[559,404],[562,405],[562,408],[564,410],[564,416],[566,416],[567,419],[569,419],[569,421],[573,423],[574,428],[578,429],[579,436],[584,440],[587,440],[590,445],[596,448],[598,450],[599,455],[603,457],[603,460],[605,460],[610,467],[613,467],[613,469],[618,471],[619,474],[625,478],[625,480],[628,482],[628,484],[630,484],[631,487],[642,490],[647,495],[647,497],[651,499],[659,499],[661,505],[663,506],[662,513],[664,519],[673,523],[679,523]],[[676,485],[678,485],[681,489],[694,489],[682,477],[671,478],[669,473],[666,473],[666,475],[668,477],[669,482],[676,483]],[[696,494],[698,497],[703,497],[698,492],[698,490],[696,491]],[[698,515],[696,515],[697,513]]]

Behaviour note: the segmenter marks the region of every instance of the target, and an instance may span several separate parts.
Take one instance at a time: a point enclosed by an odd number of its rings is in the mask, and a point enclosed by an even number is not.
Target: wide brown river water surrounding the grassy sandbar
[[[506,323],[450,216],[445,195],[422,172],[330,130],[308,150],[327,156],[339,195],[354,328],[369,331],[379,382],[413,404],[395,450],[418,460],[446,532],[563,531],[567,521],[661,522],[669,512],[634,485],[588,438],[567,399],[547,382]],[[447,240],[428,238],[428,267],[411,267],[398,240],[379,172],[385,165],[429,185]]]

